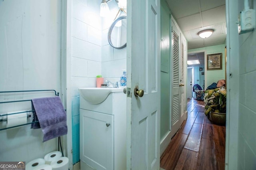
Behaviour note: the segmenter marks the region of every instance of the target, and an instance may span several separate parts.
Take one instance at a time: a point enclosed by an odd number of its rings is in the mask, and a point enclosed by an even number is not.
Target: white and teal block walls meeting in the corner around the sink
[[[114,49],[108,43],[108,28],[118,8],[108,2],[111,15],[100,17],[102,0],[72,0],[72,148],[73,164],[79,152],[79,87],[96,87],[96,75],[113,83],[126,69],[126,48]]]

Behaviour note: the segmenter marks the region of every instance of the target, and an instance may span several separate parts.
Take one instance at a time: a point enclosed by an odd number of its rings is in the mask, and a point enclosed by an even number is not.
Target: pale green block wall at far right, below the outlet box
[[[256,169],[256,32],[239,35],[239,45],[238,169],[249,170]]]

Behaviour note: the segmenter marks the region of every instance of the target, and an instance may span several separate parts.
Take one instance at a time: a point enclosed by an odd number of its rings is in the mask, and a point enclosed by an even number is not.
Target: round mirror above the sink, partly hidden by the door
[[[108,42],[116,49],[126,47],[126,16],[120,16],[114,20],[108,30]]]

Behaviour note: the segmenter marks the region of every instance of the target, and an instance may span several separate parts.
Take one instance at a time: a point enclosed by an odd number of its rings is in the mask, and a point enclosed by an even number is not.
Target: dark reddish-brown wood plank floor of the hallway
[[[204,102],[188,99],[188,119],[160,158],[164,170],[224,170],[226,127],[204,115]]]

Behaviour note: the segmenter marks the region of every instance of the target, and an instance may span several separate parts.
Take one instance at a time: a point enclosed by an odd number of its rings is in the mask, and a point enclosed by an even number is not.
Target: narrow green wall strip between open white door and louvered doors
[[[161,41],[160,140],[170,131],[170,12],[164,1],[161,1],[161,39],[164,41]]]

